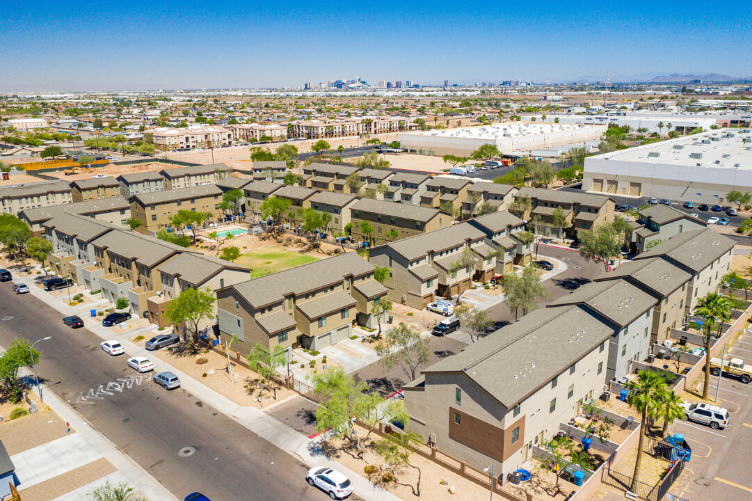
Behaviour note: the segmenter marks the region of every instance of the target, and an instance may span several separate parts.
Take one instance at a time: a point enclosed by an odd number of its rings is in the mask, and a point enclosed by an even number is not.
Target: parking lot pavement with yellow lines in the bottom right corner
[[[726,354],[752,365],[752,334],[742,334]],[[711,399],[718,378],[711,376]],[[718,405],[728,409],[729,426],[711,430],[702,424],[676,421],[672,433],[684,433],[692,448],[692,460],[675,484],[684,499],[752,499],[749,460],[752,457],[752,384],[737,378],[720,378]]]

